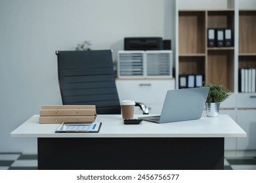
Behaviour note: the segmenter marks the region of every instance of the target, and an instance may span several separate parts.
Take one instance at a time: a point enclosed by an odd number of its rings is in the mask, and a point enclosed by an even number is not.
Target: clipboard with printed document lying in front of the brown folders
[[[102,123],[93,122],[91,124],[64,124],[62,123],[55,133],[98,133]]]

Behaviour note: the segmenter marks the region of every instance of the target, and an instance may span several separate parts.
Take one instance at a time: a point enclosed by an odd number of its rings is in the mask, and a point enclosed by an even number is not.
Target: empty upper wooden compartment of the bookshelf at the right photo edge
[[[239,52],[256,54],[256,11],[239,11]]]

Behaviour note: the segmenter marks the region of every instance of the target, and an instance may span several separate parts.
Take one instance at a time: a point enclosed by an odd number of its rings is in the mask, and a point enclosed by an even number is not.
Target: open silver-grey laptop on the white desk
[[[200,119],[209,87],[168,90],[160,116],[140,117],[140,120],[168,123]]]

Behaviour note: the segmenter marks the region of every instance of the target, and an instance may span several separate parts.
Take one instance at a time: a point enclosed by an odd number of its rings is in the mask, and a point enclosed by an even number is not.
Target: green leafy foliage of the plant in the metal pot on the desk
[[[209,87],[206,103],[220,103],[230,96],[230,90],[224,88],[223,84],[210,84],[203,82],[202,87]]]

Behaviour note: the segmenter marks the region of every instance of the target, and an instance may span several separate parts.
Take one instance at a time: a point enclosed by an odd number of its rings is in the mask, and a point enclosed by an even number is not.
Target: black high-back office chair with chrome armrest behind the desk
[[[95,105],[97,114],[121,114],[111,50],[56,51],[63,105]],[[143,114],[148,108],[136,103]]]

